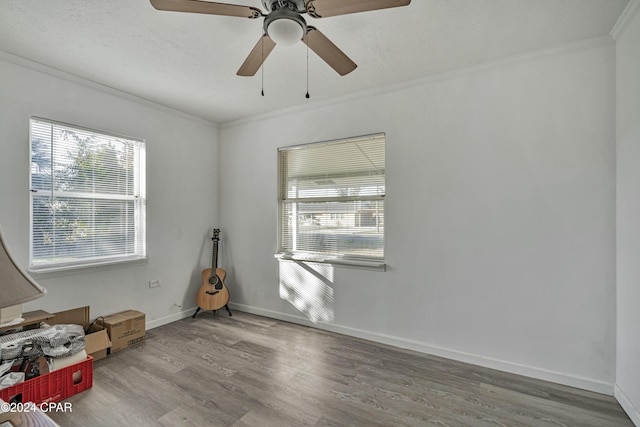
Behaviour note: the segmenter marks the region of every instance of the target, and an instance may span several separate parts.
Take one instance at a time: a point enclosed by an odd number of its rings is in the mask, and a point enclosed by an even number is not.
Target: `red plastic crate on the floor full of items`
[[[0,398],[9,403],[35,404],[60,402],[93,386],[93,357],[29,381],[0,390]]]

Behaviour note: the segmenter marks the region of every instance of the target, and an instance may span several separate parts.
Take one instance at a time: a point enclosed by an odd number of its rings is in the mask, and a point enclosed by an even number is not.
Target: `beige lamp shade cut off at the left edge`
[[[47,290],[23,272],[7,251],[0,230],[0,308],[22,304],[43,296]]]

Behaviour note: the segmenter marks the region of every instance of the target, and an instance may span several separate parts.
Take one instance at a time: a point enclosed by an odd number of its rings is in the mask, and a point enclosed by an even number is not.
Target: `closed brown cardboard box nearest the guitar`
[[[146,335],[145,314],[137,310],[125,310],[98,319],[111,339],[109,353],[115,353],[144,341]]]

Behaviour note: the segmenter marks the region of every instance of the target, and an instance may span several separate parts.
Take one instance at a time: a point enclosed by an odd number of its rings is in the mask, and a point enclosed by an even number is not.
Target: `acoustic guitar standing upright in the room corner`
[[[211,251],[211,268],[202,270],[200,276],[202,277],[202,286],[198,289],[196,294],[196,304],[198,309],[193,313],[193,318],[200,310],[216,310],[224,307],[231,316],[231,310],[227,303],[229,302],[229,290],[224,284],[224,279],[227,273],[218,268],[218,241],[220,240],[220,229],[215,228],[211,240],[213,242],[213,248]]]

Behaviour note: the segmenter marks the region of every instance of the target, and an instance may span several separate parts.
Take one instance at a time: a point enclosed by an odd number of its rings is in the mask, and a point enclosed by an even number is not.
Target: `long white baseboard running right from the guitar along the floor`
[[[496,369],[499,371],[510,372],[513,374],[523,375],[531,378],[536,378],[544,381],[550,381],[557,384],[563,384],[570,387],[576,387],[583,390],[589,390],[596,393],[607,394],[613,396],[614,384],[605,381],[599,381],[592,378],[585,378],[572,374],[564,374],[561,372],[555,372],[548,369],[538,368],[535,366],[523,365],[520,363],[509,362],[506,360],[494,359],[491,357],[485,357],[477,354],[466,353],[458,350],[452,350],[444,347],[439,347],[427,343],[422,343],[413,340],[407,340],[404,338],[398,338],[385,334],[378,334],[375,332],[364,331],[360,329],[349,328],[346,326],[336,324],[315,324],[302,316],[296,316],[286,313],[281,313],[272,310],[265,310],[258,307],[248,306],[244,304],[229,303],[232,309],[243,311],[246,313],[257,314],[259,316],[270,317],[273,319],[284,320],[286,322],[297,323],[300,325],[311,326],[314,328],[336,332],[343,335],[349,335],[357,338],[366,339],[369,341],[375,341],[382,344],[391,345],[394,347],[400,347],[407,350],[414,350],[421,353],[431,354],[434,356],[440,356],[447,359],[457,360],[459,362],[471,363],[473,365],[483,366],[485,368]]]

